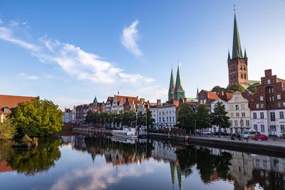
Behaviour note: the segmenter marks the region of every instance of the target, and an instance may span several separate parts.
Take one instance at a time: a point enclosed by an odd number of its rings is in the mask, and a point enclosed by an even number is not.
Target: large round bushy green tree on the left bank
[[[11,120],[19,137],[57,134],[63,129],[63,112],[49,100],[34,98],[31,102],[22,102],[11,112]]]

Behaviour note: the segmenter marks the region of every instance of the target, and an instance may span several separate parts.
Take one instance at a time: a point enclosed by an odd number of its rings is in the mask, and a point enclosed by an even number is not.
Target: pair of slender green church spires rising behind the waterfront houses
[[[180,98],[185,97],[185,91],[182,88],[182,82],[180,78],[179,65],[177,66],[176,83],[173,77],[173,71],[171,69],[170,75],[170,88],[168,90],[168,101],[180,100]]]

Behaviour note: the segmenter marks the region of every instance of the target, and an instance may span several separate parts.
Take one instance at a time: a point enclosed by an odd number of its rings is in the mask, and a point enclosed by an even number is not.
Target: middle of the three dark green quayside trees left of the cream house
[[[209,109],[206,105],[200,104],[197,106],[195,117],[197,120],[197,129],[211,127],[211,116],[209,115]]]

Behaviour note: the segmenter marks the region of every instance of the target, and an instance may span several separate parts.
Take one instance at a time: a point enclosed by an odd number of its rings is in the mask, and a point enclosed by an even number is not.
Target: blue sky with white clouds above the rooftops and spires
[[[227,87],[234,4],[249,80],[285,78],[285,0],[2,0],[0,94],[61,109],[118,91],[166,101],[177,65],[186,97]]]

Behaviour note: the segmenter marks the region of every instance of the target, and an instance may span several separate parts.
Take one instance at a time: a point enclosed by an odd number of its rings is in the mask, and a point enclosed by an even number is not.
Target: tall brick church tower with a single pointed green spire
[[[237,28],[237,18],[235,13],[232,58],[228,53],[227,65],[229,69],[229,86],[234,84],[247,85],[249,83],[249,75],[247,72],[247,53],[244,49],[244,56],[242,56],[242,48],[239,41],[239,30]]]

